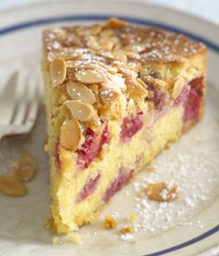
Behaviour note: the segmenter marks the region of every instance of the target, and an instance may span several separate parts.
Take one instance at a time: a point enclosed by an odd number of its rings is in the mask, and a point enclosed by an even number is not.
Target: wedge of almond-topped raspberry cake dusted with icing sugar
[[[205,46],[112,19],[44,32],[51,215],[58,233],[106,202],[203,114]]]

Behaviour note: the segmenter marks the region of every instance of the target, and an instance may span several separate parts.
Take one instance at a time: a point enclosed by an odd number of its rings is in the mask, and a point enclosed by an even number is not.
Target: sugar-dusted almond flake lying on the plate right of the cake
[[[145,188],[149,199],[158,202],[171,202],[179,198],[180,189],[175,183],[158,182]]]

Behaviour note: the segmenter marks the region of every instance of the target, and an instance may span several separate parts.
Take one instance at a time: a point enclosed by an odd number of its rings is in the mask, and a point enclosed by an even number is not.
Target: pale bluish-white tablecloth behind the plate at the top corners
[[[52,0],[0,0],[0,10]],[[83,1],[83,0],[81,0]],[[103,1],[103,0],[100,0]],[[134,0],[133,0],[134,1]],[[138,0],[139,1],[139,0]],[[156,5],[181,9],[219,24],[219,0],[142,0]]]

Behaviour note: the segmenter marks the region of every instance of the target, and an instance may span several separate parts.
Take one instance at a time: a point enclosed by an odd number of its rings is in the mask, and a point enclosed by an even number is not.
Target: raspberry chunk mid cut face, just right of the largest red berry
[[[122,142],[130,141],[130,138],[142,129],[144,124],[143,112],[139,112],[133,119],[125,118],[122,122],[120,139]]]

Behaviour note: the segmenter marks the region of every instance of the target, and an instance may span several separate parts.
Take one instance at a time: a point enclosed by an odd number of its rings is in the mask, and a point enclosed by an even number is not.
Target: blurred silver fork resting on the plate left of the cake
[[[40,83],[27,73],[14,72],[0,94],[0,139],[32,129],[39,107]]]

